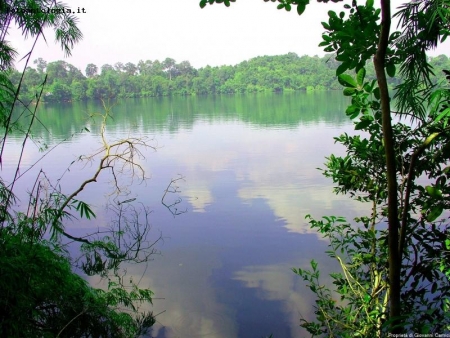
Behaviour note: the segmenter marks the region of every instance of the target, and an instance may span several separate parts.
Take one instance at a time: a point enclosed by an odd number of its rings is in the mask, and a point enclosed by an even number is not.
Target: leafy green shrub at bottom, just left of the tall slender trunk
[[[320,270],[314,260],[311,270],[293,269],[316,294],[317,321],[301,320],[301,326],[313,336],[371,337],[380,330],[385,316],[388,285],[386,247],[377,242],[384,232],[373,229],[368,219],[363,227],[354,228],[341,217],[310,219],[313,229],[330,240],[327,252],[339,261],[342,273],[333,273],[333,292],[320,283]],[[342,258],[341,258],[342,257]]]

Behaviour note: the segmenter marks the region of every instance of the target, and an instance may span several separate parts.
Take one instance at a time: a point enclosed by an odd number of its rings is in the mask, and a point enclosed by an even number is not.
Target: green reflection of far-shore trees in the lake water
[[[126,99],[114,106],[108,132],[133,127],[146,134],[158,131],[172,134],[180,128],[192,129],[199,121],[241,120],[269,129],[319,122],[341,125],[346,121],[341,113],[346,105],[347,99],[333,91]],[[68,139],[86,126],[96,133],[99,126],[88,123],[88,116],[101,109],[101,102],[93,101],[42,105],[38,112],[40,123],[33,133],[44,143]]]

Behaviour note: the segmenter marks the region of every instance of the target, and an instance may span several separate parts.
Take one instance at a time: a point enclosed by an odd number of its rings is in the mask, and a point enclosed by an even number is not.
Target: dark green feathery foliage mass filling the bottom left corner
[[[30,228],[0,230],[0,335],[3,337],[134,337],[145,326],[131,315],[152,293],[110,282],[94,289],[72,272],[56,243],[24,237]]]

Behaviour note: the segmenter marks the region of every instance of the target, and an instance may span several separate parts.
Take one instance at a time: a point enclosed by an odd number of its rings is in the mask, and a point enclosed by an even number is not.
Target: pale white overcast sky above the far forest
[[[347,1],[348,2],[348,1]],[[393,7],[401,0],[393,0]],[[75,45],[72,56],[65,57],[55,44],[54,33],[45,32],[31,60],[42,57],[47,62],[65,60],[84,72],[89,63],[103,64],[139,60],[189,61],[195,68],[206,65],[235,65],[262,55],[289,52],[323,56],[318,47],[328,21],[329,10],[340,11],[344,2],[327,4],[314,0],[305,13],[298,16],[277,10],[276,2],[237,0],[229,8],[223,4],[200,9],[199,0],[68,0],[69,8],[84,8],[77,14],[84,37]],[[8,38],[21,57],[32,41],[18,30]],[[432,55],[450,54],[450,44]],[[23,63],[22,63],[23,64]],[[16,66],[20,69],[21,63]],[[23,66],[22,66],[23,67]]]

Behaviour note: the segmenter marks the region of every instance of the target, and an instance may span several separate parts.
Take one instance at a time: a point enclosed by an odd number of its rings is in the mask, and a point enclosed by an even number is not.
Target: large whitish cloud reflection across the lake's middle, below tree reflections
[[[307,214],[352,219],[365,210],[361,203],[336,196],[331,180],[316,169],[323,167],[325,156],[342,152],[332,137],[340,128],[324,128],[319,123],[283,133],[234,124],[197,124],[194,129],[192,134],[179,136],[182,142],[176,149],[176,161],[184,166],[189,182],[183,195],[194,211],[204,212],[214,201],[211,182],[220,170],[235,173],[240,182],[238,196],[245,203],[263,198],[292,232],[312,232],[305,220]]]

